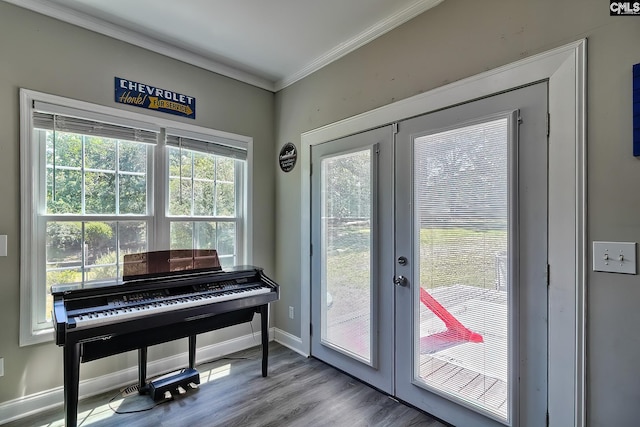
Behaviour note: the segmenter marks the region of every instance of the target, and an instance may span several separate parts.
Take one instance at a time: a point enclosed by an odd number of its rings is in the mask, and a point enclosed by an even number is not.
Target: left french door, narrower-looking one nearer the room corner
[[[392,127],[311,156],[312,354],[393,394]]]

